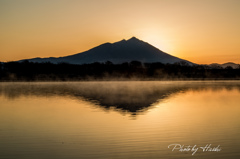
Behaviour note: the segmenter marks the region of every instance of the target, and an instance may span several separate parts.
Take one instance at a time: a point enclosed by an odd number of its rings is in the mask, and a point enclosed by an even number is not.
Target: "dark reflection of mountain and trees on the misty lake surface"
[[[86,100],[105,110],[114,108],[121,112],[136,114],[147,110],[154,103],[176,93],[188,90],[200,91],[211,89],[237,89],[240,82],[34,82],[34,83],[0,83],[0,95],[9,99],[21,96],[70,97]],[[207,100],[207,99],[206,99]]]

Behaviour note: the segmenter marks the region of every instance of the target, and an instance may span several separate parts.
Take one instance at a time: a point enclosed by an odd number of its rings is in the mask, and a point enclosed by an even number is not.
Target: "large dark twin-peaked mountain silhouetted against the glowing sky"
[[[181,63],[182,61],[192,65],[193,63],[169,55],[156,47],[132,37],[129,40],[121,40],[115,43],[104,43],[88,51],[65,56],[65,57],[50,57],[50,58],[33,58],[26,59],[29,62],[51,62],[51,63],[70,63],[70,64],[89,64],[94,62],[111,61],[114,64],[140,61],[142,63]],[[21,60],[24,61],[24,60]]]

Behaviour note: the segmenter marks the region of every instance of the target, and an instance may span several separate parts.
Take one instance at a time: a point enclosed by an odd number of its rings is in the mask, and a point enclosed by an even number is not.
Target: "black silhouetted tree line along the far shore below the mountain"
[[[141,63],[0,63],[0,81],[66,81],[66,80],[218,80],[240,79],[240,68],[212,68],[206,65]]]

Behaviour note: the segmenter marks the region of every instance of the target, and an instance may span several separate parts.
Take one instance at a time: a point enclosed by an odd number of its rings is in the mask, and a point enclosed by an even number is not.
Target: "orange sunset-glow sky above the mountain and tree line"
[[[240,63],[240,0],[0,0],[0,61],[133,36],[198,64]]]

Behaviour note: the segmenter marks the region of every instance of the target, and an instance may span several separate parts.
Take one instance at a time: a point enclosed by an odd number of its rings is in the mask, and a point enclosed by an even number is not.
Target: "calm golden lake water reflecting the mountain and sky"
[[[237,159],[240,82],[0,83],[1,159]]]

